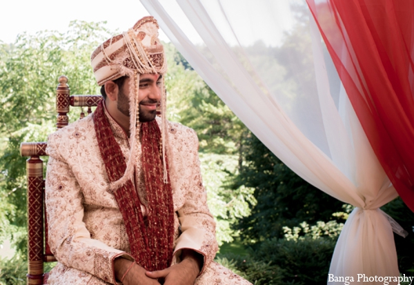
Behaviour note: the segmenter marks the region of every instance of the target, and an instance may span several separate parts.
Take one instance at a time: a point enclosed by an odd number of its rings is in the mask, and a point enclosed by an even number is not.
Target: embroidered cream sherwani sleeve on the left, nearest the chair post
[[[75,175],[59,153],[55,135],[48,139],[48,168],[46,174],[46,209],[48,242],[57,260],[117,284],[113,261],[116,257],[133,260],[128,253],[107,246],[90,237],[83,223],[83,194]]]

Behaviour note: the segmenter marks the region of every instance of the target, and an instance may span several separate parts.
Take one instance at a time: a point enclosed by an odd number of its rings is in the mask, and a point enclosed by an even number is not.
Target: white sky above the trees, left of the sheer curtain
[[[2,1],[0,10],[0,41],[13,43],[18,34],[34,34],[40,30],[68,30],[70,21],[107,21],[109,30],[122,32],[149,13],[139,0],[12,0]],[[106,3],[104,3],[106,2]],[[116,7],[111,7],[110,4]],[[118,3],[122,3],[122,8]],[[164,32],[159,37],[169,41]]]

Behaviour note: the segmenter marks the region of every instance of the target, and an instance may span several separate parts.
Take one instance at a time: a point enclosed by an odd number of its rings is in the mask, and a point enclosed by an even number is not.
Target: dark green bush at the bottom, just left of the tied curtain
[[[253,284],[325,284],[336,238],[267,239],[248,256],[217,255],[219,264]]]

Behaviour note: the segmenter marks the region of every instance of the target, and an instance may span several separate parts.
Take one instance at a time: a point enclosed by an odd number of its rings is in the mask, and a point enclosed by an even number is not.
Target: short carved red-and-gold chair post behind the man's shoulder
[[[70,88],[68,86],[68,77],[62,75],[59,77],[59,84],[56,88],[56,112],[57,122],[56,128],[63,128],[69,124],[69,104],[70,104]]]

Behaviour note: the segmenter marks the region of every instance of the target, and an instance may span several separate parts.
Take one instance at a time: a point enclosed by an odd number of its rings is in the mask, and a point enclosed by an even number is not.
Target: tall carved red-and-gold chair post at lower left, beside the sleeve
[[[28,181],[28,275],[27,284],[43,284],[43,160],[46,143],[22,143],[21,156],[28,156],[26,174]]]

